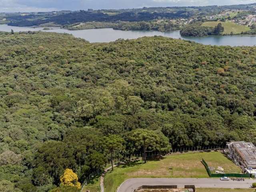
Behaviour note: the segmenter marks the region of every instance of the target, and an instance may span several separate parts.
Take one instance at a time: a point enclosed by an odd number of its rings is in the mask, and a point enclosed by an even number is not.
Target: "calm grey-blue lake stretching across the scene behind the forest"
[[[43,28],[16,27],[8,25],[0,25],[0,31],[10,32],[20,31],[40,31]],[[181,38],[205,45],[229,45],[229,46],[254,46],[256,45],[256,36],[208,36],[208,37],[181,37],[179,31],[159,32],[159,31],[121,31],[112,28],[105,29],[87,29],[87,30],[66,30],[54,28],[44,30],[45,32],[69,33],[78,38],[84,38],[89,42],[111,42],[119,38],[135,39],[143,36],[165,36],[171,38]]]

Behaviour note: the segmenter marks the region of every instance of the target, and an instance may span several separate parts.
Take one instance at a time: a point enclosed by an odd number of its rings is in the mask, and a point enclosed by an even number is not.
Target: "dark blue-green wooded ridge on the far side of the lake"
[[[8,23],[12,26],[38,26],[53,22],[54,24],[72,24],[77,22],[115,22],[115,21],[149,21],[156,18],[188,18],[192,12],[186,10],[176,10],[172,12],[121,12],[119,14],[105,14],[103,12],[72,12],[68,14],[61,14],[52,16],[50,18],[34,19],[28,16],[15,16],[8,18],[11,22]]]

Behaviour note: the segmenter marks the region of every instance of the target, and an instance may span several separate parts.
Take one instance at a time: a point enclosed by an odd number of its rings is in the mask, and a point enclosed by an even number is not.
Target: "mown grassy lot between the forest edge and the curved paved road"
[[[226,171],[240,171],[232,161],[220,152],[189,152],[172,154],[162,160],[142,161],[116,167],[106,174],[104,186],[106,192],[115,192],[116,188],[129,178],[207,178],[208,174],[200,162],[204,158],[209,166],[222,166]],[[170,170],[169,168],[172,168]]]

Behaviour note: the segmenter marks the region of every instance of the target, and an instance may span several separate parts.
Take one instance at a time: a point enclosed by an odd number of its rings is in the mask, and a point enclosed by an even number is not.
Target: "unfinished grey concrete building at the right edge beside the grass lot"
[[[256,147],[250,142],[238,141],[227,144],[230,158],[243,169],[256,168]]]

